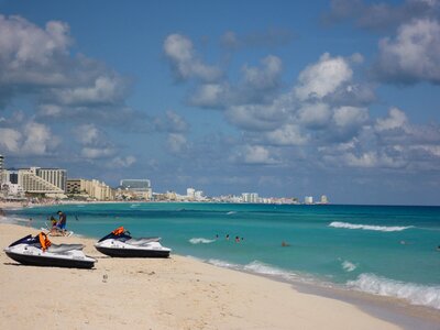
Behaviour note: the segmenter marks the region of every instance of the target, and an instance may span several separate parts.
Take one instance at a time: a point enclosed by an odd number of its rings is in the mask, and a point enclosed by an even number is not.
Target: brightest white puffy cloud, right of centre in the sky
[[[353,72],[343,57],[331,57],[326,53],[317,64],[307,66],[299,74],[295,94],[302,101],[310,98],[321,99],[334,92],[352,75]]]

